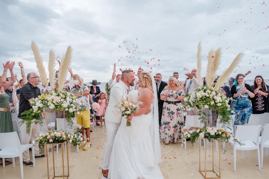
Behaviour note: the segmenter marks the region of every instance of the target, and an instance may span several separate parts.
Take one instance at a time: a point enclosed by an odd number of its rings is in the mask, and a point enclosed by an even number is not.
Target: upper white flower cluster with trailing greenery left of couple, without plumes
[[[30,133],[31,123],[43,124],[41,119],[42,112],[44,108],[50,108],[54,110],[65,110],[66,111],[66,121],[69,126],[73,126],[72,116],[73,112],[79,110],[81,103],[78,101],[77,97],[71,92],[67,91],[54,91],[51,90],[50,93],[44,93],[33,99],[30,102],[32,109],[29,109],[21,114],[20,124],[26,123],[26,132]],[[79,114],[79,112],[77,112]],[[33,121],[35,119],[35,121]]]

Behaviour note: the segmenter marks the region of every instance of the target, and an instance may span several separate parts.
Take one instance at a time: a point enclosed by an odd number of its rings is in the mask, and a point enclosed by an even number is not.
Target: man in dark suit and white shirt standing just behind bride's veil
[[[161,126],[162,112],[163,112],[163,100],[161,100],[161,92],[167,83],[162,81],[162,75],[157,73],[155,76],[157,95],[158,95],[158,108],[159,108],[159,125]]]

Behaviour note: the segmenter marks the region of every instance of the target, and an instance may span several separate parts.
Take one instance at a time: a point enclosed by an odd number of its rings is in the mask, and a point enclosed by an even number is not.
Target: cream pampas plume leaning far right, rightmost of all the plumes
[[[230,80],[229,76],[234,71],[236,67],[239,66],[239,63],[242,61],[242,58],[244,56],[244,53],[239,53],[236,58],[233,60],[232,64],[230,65],[227,70],[224,71],[224,73],[218,78],[218,81],[214,87],[215,90],[218,90],[220,87],[222,87],[228,80]]]

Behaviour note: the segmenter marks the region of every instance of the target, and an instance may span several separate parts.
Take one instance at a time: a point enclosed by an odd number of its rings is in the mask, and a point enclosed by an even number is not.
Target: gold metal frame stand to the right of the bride
[[[201,170],[201,138],[199,139],[199,172],[203,175],[205,179],[213,179],[213,178],[221,178],[221,173],[220,173],[220,161],[221,161],[221,152],[219,150],[219,173],[217,174],[214,170],[214,139],[212,139],[211,144],[212,144],[212,170],[207,170],[207,140],[205,139],[205,157],[204,157],[204,170]],[[217,139],[219,143],[219,149],[221,149],[221,139]],[[207,177],[207,172],[214,172],[217,177]]]

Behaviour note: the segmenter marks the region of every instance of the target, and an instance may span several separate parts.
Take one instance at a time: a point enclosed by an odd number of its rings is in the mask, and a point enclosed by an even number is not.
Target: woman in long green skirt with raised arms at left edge
[[[5,90],[12,86],[15,81],[15,75],[13,73],[13,67],[15,62],[7,62],[4,67],[3,75],[0,77],[0,133],[13,132],[13,125],[10,113],[9,95],[5,93]],[[6,81],[7,70],[10,70],[11,81]],[[10,164],[10,161],[5,161],[5,164]],[[0,158],[0,165],[3,164],[2,158]]]

